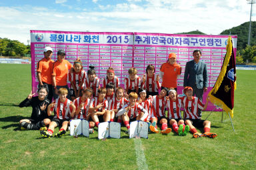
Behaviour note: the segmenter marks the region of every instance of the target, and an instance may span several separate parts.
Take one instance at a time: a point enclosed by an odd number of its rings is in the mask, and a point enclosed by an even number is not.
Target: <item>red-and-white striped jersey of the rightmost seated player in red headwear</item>
[[[204,105],[197,97],[192,97],[192,100],[187,97],[182,98],[182,104],[184,107],[184,119],[201,119],[201,115],[198,113],[198,109],[203,109]]]

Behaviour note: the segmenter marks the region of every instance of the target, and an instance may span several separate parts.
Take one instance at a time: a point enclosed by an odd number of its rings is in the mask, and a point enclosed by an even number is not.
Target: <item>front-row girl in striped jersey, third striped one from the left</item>
[[[99,97],[94,97],[91,100],[89,112],[91,119],[95,122],[95,125],[98,127],[99,122],[110,121],[109,112],[107,112],[107,99],[105,95],[107,90],[104,87],[99,88],[98,90]]]

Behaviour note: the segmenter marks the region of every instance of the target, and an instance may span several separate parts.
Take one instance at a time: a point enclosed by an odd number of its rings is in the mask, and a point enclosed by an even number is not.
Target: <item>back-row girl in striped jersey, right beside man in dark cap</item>
[[[80,96],[82,86],[81,84],[83,83],[82,79],[83,77],[86,77],[86,72],[83,70],[83,65],[80,59],[77,59],[74,62],[73,68],[75,71],[73,71],[73,73],[69,71],[68,75],[68,80],[71,83],[70,96],[72,101]]]

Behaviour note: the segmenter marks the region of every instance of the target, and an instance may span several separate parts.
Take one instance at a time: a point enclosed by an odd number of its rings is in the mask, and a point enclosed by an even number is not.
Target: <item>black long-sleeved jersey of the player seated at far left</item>
[[[40,107],[43,106],[43,103],[46,105],[46,109],[41,111]],[[48,118],[47,115],[47,107],[50,104],[49,100],[45,98],[43,101],[38,99],[38,96],[32,97],[32,99],[25,99],[21,103],[19,103],[19,107],[28,107],[32,106],[32,114],[31,119],[35,121],[42,121],[45,118]]]

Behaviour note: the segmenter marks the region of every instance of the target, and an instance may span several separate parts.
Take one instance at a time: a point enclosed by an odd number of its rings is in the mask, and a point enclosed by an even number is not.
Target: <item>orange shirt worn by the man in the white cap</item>
[[[51,73],[54,61],[52,59],[41,59],[37,63],[37,72],[41,73],[41,80],[49,85],[53,83]]]

